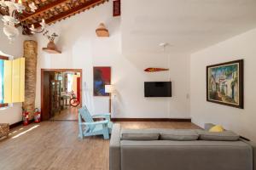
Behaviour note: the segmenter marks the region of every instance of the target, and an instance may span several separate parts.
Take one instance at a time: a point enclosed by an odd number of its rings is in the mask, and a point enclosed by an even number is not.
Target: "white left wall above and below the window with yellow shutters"
[[[0,21],[0,28],[3,29],[3,22]],[[23,57],[23,41],[32,39],[32,37],[25,37],[20,35],[15,42],[9,43],[8,38],[0,30],[0,51],[4,54],[12,55],[14,58]],[[0,123],[13,124],[21,121],[21,103],[14,104],[13,107],[2,108],[0,110]]]

